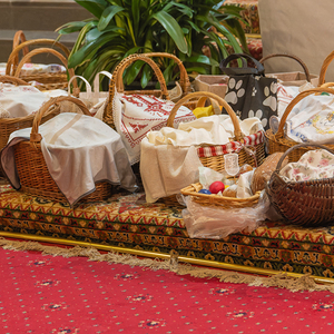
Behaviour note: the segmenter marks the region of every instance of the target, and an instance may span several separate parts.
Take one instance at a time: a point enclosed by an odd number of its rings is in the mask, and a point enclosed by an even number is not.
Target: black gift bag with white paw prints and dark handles
[[[233,60],[242,59],[243,67],[228,67]],[[248,67],[254,63],[255,67]],[[277,79],[267,78],[263,65],[246,53],[228,56],[219,63],[220,70],[229,76],[226,102],[243,120],[258,117],[265,130],[269,128],[269,118],[277,116]]]

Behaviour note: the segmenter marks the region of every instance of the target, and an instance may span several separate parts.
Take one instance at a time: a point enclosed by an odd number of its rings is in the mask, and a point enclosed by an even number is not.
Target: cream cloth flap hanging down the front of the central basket
[[[140,176],[146,202],[178,194],[181,188],[198,181],[202,163],[194,146],[174,147],[141,140]]]

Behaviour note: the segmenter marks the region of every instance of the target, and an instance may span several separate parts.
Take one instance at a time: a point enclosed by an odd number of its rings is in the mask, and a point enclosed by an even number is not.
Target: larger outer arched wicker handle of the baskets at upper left
[[[58,47],[59,49],[61,49],[66,56],[66,58],[69,57],[70,55],[70,50],[62,43],[53,40],[53,39],[31,39],[31,40],[27,40],[24,42],[21,42],[20,45],[18,45],[9,55],[8,60],[7,60],[7,67],[6,67],[6,75],[13,75],[14,70],[16,70],[16,59],[19,55],[19,51],[22,49],[28,49],[29,46],[36,46],[36,45],[51,45],[55,47]],[[28,49],[29,52],[29,49]],[[27,52],[27,53],[28,53]],[[27,55],[26,53],[26,55]],[[26,56],[23,52],[23,56]],[[29,58],[26,60],[26,62],[29,62]]]

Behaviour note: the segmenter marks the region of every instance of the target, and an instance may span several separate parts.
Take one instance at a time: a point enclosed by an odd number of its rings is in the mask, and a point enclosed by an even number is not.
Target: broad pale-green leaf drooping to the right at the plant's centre
[[[168,35],[175,41],[177,48],[183,52],[186,53],[188,51],[187,42],[184,36],[184,32],[177,21],[167,12],[159,11],[153,14],[155,18],[168,32]]]

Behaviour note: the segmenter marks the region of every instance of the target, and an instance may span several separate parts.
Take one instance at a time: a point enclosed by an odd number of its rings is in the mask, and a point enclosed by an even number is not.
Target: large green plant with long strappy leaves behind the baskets
[[[224,0],[225,1],[225,0]],[[112,71],[131,53],[169,52],[184,61],[188,72],[219,73],[219,61],[229,50],[242,52],[236,38],[247,51],[240,28],[239,9],[218,0],[76,0],[92,19],[69,22],[58,32],[78,32],[69,57],[69,67],[90,82],[98,71]],[[210,50],[210,58],[203,55]],[[164,59],[166,82],[177,76],[173,60]],[[153,72],[137,63],[126,71],[129,84],[140,72],[141,86]]]

